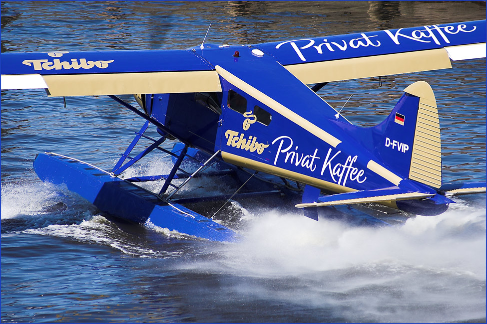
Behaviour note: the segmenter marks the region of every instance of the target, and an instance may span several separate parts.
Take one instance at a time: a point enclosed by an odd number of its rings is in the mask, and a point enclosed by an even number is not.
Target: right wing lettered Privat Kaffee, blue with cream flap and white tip
[[[486,20],[302,38],[254,47],[305,84],[451,68],[486,57]]]

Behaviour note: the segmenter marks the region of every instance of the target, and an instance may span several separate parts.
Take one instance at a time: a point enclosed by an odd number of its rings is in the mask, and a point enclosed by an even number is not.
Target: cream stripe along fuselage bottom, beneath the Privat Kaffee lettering
[[[280,167],[277,167],[274,165],[269,165],[269,164],[266,164],[263,162],[258,162],[258,161],[254,161],[251,159],[243,158],[243,157],[231,154],[231,153],[222,152],[221,156],[222,156],[223,161],[225,161],[225,162],[232,163],[235,165],[239,165],[242,167],[248,167],[248,168],[251,168],[253,170],[262,171],[262,172],[274,174],[277,176],[282,176],[286,179],[291,179],[294,181],[306,183],[306,184],[315,186],[315,187],[320,188],[320,189],[329,190],[329,191],[333,191],[333,192],[357,191],[356,189],[345,187],[343,185],[339,185],[339,184],[336,184],[333,182],[328,182],[325,180],[317,179],[317,178],[314,178],[312,176],[304,175],[304,174],[301,174],[298,172],[289,171],[289,170],[286,170],[286,169],[283,169],[283,168],[280,168]]]

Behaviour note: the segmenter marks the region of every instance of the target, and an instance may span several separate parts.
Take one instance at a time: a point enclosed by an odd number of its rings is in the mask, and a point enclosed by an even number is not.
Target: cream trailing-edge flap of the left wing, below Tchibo
[[[215,71],[44,75],[49,96],[221,92]]]

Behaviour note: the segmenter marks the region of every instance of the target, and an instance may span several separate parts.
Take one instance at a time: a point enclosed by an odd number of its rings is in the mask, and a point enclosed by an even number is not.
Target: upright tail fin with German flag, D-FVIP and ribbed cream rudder
[[[442,157],[435,95],[425,81],[413,83],[404,92],[382,123],[370,128],[350,126],[349,131],[396,174],[440,188]]]

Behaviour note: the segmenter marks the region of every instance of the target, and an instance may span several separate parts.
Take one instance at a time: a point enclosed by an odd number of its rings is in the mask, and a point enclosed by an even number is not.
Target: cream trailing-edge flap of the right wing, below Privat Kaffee
[[[444,48],[286,65],[305,84],[451,68]]]

